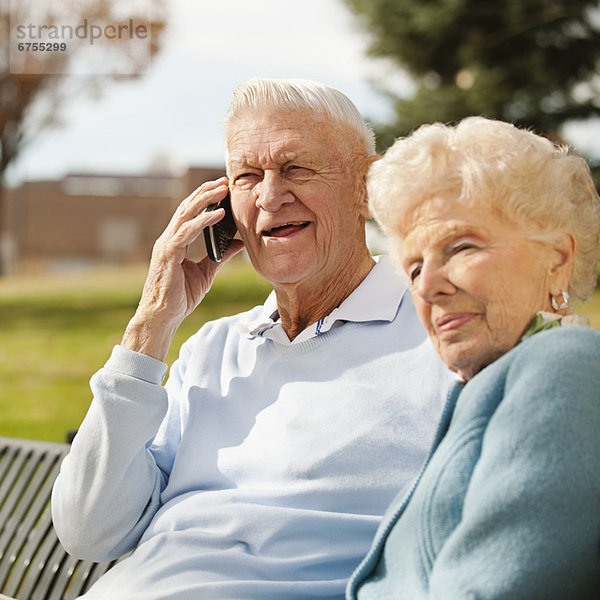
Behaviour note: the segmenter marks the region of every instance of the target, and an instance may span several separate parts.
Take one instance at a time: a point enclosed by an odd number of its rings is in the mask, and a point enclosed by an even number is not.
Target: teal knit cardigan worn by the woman
[[[347,598],[600,598],[600,332],[542,331],[450,390]]]

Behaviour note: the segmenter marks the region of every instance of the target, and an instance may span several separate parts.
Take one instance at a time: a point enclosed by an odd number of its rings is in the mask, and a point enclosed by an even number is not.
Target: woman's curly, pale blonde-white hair
[[[582,158],[531,131],[483,117],[424,125],[396,140],[369,171],[371,212],[396,242],[408,212],[434,196],[487,203],[534,239],[568,231],[577,241],[569,293],[594,291],[600,259],[600,198]]]

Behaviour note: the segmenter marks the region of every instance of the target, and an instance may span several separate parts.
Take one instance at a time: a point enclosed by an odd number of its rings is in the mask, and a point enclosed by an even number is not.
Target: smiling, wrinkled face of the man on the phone
[[[230,124],[228,152],[241,238],[274,286],[321,285],[362,256],[363,171],[348,132],[321,115],[247,112]]]

